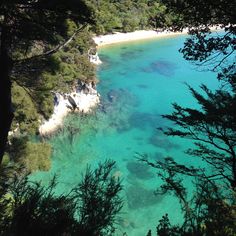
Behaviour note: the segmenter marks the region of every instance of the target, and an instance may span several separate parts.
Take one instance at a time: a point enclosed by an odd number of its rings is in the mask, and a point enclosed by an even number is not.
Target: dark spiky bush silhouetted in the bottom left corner
[[[0,202],[1,235],[109,235],[121,210],[120,180],[112,176],[114,162],[106,161],[67,194],[55,194],[56,180],[48,187],[14,178],[10,197]],[[7,211],[6,211],[7,204]],[[6,214],[4,214],[6,213]]]

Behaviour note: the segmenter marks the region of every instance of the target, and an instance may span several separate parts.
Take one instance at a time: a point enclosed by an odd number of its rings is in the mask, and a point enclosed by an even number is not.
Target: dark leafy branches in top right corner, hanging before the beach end
[[[218,72],[218,79],[232,86],[235,92],[235,3],[230,0],[204,1],[162,0],[168,12],[181,18],[172,22],[170,30],[189,29],[191,37],[180,51],[186,60]],[[225,33],[212,34],[211,26]]]

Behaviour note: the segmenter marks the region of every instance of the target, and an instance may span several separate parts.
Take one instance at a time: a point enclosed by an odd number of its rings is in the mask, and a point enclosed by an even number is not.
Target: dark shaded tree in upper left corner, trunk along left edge
[[[0,4],[0,161],[13,119],[11,78],[40,73],[48,56],[91,23],[83,1],[2,1]],[[68,20],[75,29],[68,34]],[[37,50],[36,50],[37,49]]]

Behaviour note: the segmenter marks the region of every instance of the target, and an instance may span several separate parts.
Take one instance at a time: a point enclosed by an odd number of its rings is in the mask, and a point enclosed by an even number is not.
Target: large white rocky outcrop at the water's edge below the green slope
[[[63,119],[66,115],[73,111],[72,104],[69,101],[69,97],[73,98],[76,103],[75,112],[89,113],[100,102],[100,95],[97,91],[89,87],[89,93],[85,93],[83,90],[72,92],[63,96],[57,94],[58,102],[54,106],[54,111],[49,120],[45,120],[39,127],[39,133],[42,136],[47,136],[55,132],[63,124]]]

